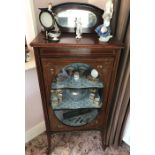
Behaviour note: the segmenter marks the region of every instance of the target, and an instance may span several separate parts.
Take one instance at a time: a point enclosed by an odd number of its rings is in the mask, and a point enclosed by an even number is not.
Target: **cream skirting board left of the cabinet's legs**
[[[25,133],[25,143],[29,142],[33,138],[37,137],[41,133],[45,131],[45,122],[42,121],[39,124],[35,125],[30,130],[26,131]]]

